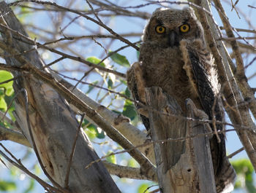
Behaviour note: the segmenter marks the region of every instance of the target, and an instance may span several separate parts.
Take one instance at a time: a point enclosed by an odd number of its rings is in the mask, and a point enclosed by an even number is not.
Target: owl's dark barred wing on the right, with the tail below
[[[186,45],[186,50],[182,50],[181,48],[183,54],[187,57],[184,59],[185,66],[189,66],[187,68],[189,68],[189,74],[192,76],[189,77],[189,79],[197,90],[203,111],[208,114],[208,118],[211,120],[213,116],[215,116],[217,121],[222,122],[223,112],[217,98],[218,81],[213,66],[214,60],[212,60],[211,54],[208,53],[206,48],[202,46],[202,43],[196,42],[195,45],[195,47],[193,45],[192,47]],[[183,47],[183,49],[185,49],[185,47]],[[213,128],[213,125],[211,125],[211,127]],[[217,130],[224,129],[223,125],[220,124],[216,124],[216,127]],[[210,146],[217,192],[222,192],[223,189],[233,186],[232,184],[236,178],[236,173],[226,157],[225,135],[219,133],[219,138],[220,143],[217,141],[217,136],[214,135],[210,140]]]

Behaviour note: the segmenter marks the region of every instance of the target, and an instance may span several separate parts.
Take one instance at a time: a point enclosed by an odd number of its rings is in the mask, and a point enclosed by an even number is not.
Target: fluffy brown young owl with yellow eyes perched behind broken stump
[[[157,9],[144,30],[139,60],[127,71],[127,84],[136,101],[146,103],[145,87],[161,87],[176,98],[184,112],[185,101],[190,98],[209,119],[215,116],[223,120],[222,108],[214,102],[219,93],[214,60],[191,8]],[[140,117],[148,130],[148,118],[142,114]],[[217,130],[222,127],[217,125]],[[220,143],[216,135],[210,140],[211,157],[217,192],[226,192],[236,173],[226,157],[225,135],[220,133],[219,138]]]

